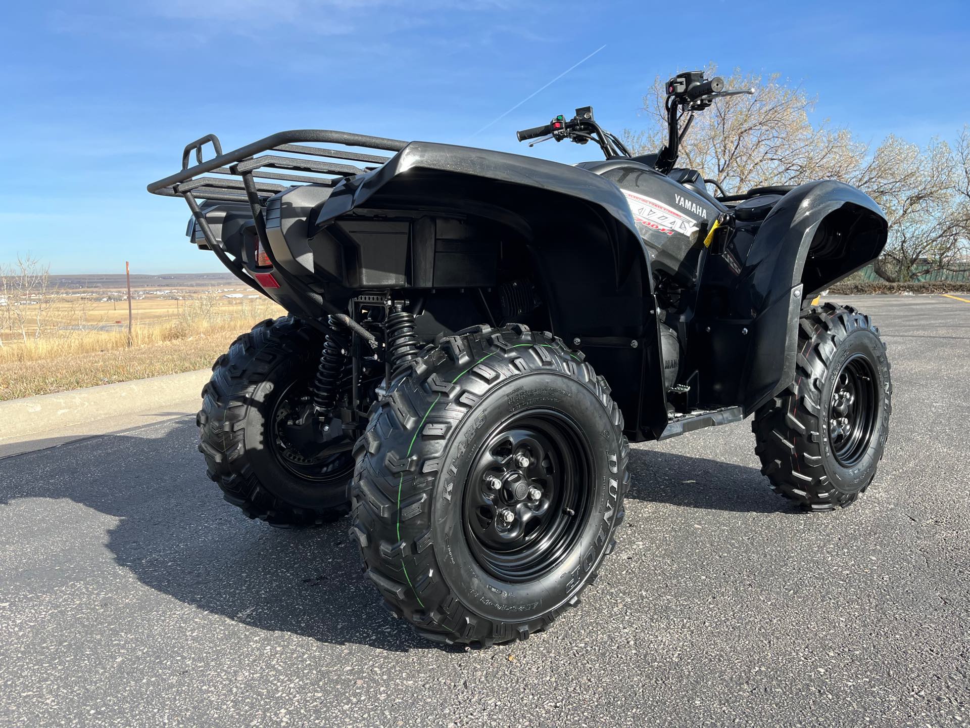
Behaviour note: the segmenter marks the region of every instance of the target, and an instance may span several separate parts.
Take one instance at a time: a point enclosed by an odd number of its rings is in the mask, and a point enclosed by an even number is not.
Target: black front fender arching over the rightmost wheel
[[[887,235],[879,206],[844,182],[801,184],[775,205],[755,236],[746,275],[734,292],[735,312],[754,319],[740,389],[745,415],[794,380],[803,302],[878,257]]]

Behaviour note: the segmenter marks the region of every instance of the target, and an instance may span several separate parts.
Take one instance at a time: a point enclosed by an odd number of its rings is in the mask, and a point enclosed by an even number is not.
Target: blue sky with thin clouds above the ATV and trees
[[[587,61],[476,132],[580,59]],[[217,271],[188,209],[145,191],[186,142],[330,128],[519,151],[516,129],[592,104],[619,132],[657,75],[778,72],[866,141],[970,121],[964,2],[140,0],[9,3],[0,20],[0,263]],[[570,148],[570,149],[567,149]]]

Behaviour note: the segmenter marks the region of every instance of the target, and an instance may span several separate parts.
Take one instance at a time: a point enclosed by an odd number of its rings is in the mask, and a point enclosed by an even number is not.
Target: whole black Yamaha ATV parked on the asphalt
[[[188,145],[148,190],[290,313],[203,390],[226,499],[278,526],[350,513],[390,611],[474,645],[579,603],[623,520],[628,441],[754,414],[777,491],[853,503],[886,442],[886,347],[809,302],[880,253],[886,218],[841,182],[726,194],[675,167],[693,114],[738,91],[699,72],[667,91],[658,154],[589,107],[519,132],[605,155],[575,166],[321,130]]]

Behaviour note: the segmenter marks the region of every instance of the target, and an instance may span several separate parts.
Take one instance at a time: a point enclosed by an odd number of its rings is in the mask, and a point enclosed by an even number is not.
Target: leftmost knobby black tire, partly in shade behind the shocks
[[[275,526],[308,526],[350,512],[353,457],[328,458],[303,473],[275,447],[274,418],[291,387],[307,386],[323,335],[292,316],[267,319],[240,336],[212,365],[203,387],[199,451],[211,480],[250,518]]]

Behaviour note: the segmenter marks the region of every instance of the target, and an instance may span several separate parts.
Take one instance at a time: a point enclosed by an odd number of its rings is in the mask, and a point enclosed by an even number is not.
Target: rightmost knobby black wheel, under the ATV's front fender
[[[869,316],[813,307],[801,316],[794,381],[752,423],[761,473],[808,510],[852,505],[883,457],[891,395],[886,345]],[[845,430],[844,414],[853,415]]]

